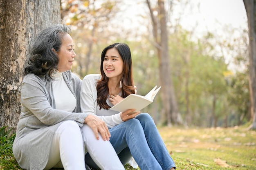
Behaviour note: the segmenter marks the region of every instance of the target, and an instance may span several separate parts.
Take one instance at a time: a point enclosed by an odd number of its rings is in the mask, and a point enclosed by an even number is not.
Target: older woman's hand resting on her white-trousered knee
[[[99,119],[94,115],[88,115],[85,118],[85,123],[92,128],[97,140],[99,140],[99,133],[101,134],[104,141],[110,138],[110,132],[108,130],[108,126],[106,125],[105,121]]]

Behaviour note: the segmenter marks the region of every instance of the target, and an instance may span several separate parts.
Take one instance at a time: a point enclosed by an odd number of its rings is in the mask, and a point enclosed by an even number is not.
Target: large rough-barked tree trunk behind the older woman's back
[[[36,33],[61,22],[59,0],[0,0],[0,127],[16,129],[28,46]]]

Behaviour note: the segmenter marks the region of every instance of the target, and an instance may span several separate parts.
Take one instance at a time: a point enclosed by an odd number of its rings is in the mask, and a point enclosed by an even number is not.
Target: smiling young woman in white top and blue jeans
[[[121,162],[134,157],[141,170],[174,170],[175,163],[166,149],[153,118],[148,113],[118,113],[110,107],[135,93],[132,80],[130,48],[124,43],[107,46],[101,53],[101,75],[84,77],[81,87],[81,110],[97,115],[110,128],[110,142]],[[90,154],[90,153],[89,153]],[[89,157],[90,166],[97,168]]]

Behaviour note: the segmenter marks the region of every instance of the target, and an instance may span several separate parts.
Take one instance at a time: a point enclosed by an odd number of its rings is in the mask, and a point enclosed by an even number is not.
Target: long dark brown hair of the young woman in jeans
[[[100,109],[108,110],[110,106],[108,106],[106,100],[108,98],[109,90],[108,90],[108,77],[105,75],[103,71],[103,61],[108,49],[115,48],[121,55],[124,61],[124,74],[121,79],[122,86],[122,95],[121,97],[127,97],[130,94],[135,93],[133,77],[132,77],[132,56],[130,52],[130,48],[127,44],[124,43],[115,43],[110,46],[107,46],[103,49],[101,53],[101,79],[97,82],[97,102],[99,104]]]

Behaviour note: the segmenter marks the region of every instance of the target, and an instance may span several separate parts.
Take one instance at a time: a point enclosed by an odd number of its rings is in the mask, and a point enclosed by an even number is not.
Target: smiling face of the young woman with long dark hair
[[[124,61],[117,49],[108,49],[103,61],[103,70],[108,78],[123,77]]]

